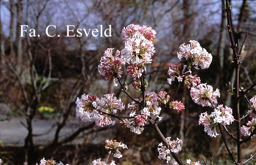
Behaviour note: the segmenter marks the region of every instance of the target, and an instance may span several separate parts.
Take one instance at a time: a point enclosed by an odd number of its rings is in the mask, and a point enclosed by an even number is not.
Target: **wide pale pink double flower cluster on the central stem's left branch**
[[[124,110],[124,105],[120,98],[117,99],[114,96],[114,93],[106,94],[101,99],[96,95],[83,94],[81,99],[78,97],[76,100],[76,117],[83,122],[94,120],[99,127],[114,125],[115,120],[107,114],[116,114],[118,110]]]

